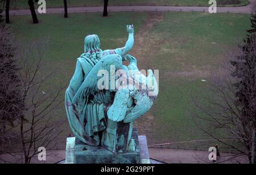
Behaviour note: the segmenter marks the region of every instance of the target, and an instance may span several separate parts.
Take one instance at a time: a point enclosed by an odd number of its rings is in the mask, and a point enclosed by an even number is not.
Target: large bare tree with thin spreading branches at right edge
[[[246,155],[255,163],[255,33],[239,48],[240,53],[230,54],[232,60],[210,79],[203,103],[193,98],[199,109],[193,118],[205,134],[236,151],[234,157]]]

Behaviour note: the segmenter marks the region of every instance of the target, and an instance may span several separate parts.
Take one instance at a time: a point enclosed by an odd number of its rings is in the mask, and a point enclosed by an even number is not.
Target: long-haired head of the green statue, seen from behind
[[[97,35],[88,35],[84,39],[84,52],[97,52],[100,50],[100,39]]]

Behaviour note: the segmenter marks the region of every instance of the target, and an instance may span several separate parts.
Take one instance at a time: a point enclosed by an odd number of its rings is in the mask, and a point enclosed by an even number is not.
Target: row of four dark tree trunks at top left
[[[10,15],[9,15],[9,10],[10,10],[10,1],[11,0],[0,0],[2,8],[5,8],[5,22],[10,23]],[[16,1],[16,0],[13,0]],[[35,0],[35,2],[38,2],[39,0]],[[64,2],[64,18],[68,18],[68,4],[67,0],[63,0]],[[103,16],[108,16],[108,0],[104,0],[104,11],[103,11]],[[36,11],[35,11],[35,6],[34,6],[34,1],[33,0],[28,0],[28,6],[30,7],[30,12],[32,16],[33,23],[36,24],[38,23],[38,17],[36,16]],[[1,7],[0,7],[1,8]]]

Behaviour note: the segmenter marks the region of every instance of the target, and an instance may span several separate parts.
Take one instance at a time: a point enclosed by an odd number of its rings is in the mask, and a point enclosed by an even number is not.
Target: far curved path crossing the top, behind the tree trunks
[[[251,8],[255,5],[256,0],[250,0],[250,4],[241,7],[217,7],[217,12],[230,12],[250,14]],[[111,11],[199,11],[208,12],[209,7],[185,7],[185,6],[109,6]],[[102,12],[103,7],[68,7],[68,13],[81,12]],[[46,14],[61,14],[64,8],[47,8]],[[5,15],[3,13],[3,15]],[[10,10],[10,15],[30,15],[29,9]]]

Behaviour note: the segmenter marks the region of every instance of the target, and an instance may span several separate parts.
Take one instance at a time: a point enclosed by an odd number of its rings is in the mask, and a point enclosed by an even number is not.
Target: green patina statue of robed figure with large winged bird
[[[133,122],[151,108],[158,95],[152,71],[144,76],[136,58],[126,55],[134,44],[133,25],[127,25],[127,32],[123,48],[104,51],[97,35],[86,36],[84,53],[77,58],[65,93],[65,109],[76,138],[115,153],[135,150]],[[126,60],[129,66],[122,64]]]

